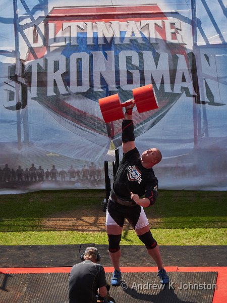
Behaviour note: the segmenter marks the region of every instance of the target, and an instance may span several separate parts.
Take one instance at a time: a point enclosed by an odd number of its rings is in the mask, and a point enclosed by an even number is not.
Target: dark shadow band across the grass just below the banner
[[[154,228],[225,228],[227,192],[160,190],[145,212]],[[105,231],[104,190],[39,191],[1,196],[0,231]],[[127,241],[129,224],[122,237]]]

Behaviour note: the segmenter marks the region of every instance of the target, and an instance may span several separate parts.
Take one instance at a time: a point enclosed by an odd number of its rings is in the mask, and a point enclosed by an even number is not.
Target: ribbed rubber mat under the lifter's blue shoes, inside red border
[[[106,274],[107,281],[111,275]],[[0,274],[0,302],[68,303],[68,276],[67,273]],[[171,272],[171,282],[164,287],[155,272],[123,273],[122,278],[122,287],[111,287],[109,291],[116,303],[211,303],[217,273]]]

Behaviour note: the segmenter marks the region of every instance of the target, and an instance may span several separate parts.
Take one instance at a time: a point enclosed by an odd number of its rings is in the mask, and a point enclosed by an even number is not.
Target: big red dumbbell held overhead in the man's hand
[[[138,113],[158,109],[158,103],[152,88],[152,84],[134,88],[132,91]],[[98,103],[105,123],[123,119],[124,113],[122,108],[130,105],[128,102],[121,103],[118,94],[101,98],[98,100]]]

